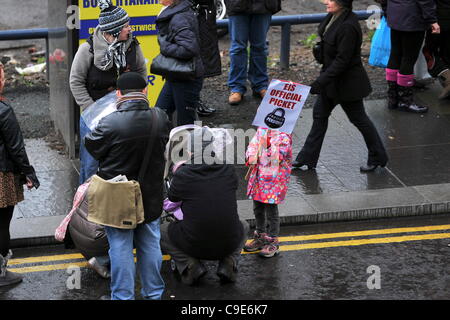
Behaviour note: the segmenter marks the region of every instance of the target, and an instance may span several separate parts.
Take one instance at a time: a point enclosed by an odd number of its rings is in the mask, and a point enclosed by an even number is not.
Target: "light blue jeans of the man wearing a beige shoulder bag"
[[[105,227],[111,259],[111,299],[133,300],[136,264],[133,241],[136,246],[137,271],[144,299],[161,299],[164,281],[161,277],[162,253],[160,246],[160,221],[137,226],[136,229]]]

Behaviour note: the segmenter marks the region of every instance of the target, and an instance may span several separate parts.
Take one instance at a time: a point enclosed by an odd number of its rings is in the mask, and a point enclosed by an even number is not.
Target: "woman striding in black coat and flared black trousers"
[[[313,110],[313,125],[305,145],[292,163],[315,168],[334,107],[342,106],[347,117],[364,137],[368,149],[367,164],[362,172],[384,167],[388,156],[378,132],[368,118],[363,98],[371,92],[369,77],[361,62],[362,31],[358,17],[352,12],[352,0],[326,0],[328,16],[320,24],[322,39],[315,49],[316,59],[323,64],[319,78],[311,85],[311,93],[319,94]]]

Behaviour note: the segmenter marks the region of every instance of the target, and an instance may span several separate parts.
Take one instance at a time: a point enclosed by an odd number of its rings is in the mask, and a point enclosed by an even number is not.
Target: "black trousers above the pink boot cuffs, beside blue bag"
[[[425,31],[398,31],[391,29],[391,55],[388,68],[399,70],[400,74],[414,74],[414,65],[419,57]]]

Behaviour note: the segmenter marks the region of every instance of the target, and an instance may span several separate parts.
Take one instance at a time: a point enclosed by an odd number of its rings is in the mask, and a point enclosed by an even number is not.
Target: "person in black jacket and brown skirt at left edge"
[[[0,63],[0,94],[5,84]],[[22,132],[14,110],[0,96],[0,287],[22,281],[22,276],[6,269],[12,253],[9,250],[9,225],[14,206],[24,199],[23,184],[39,187],[34,168],[28,161]]]

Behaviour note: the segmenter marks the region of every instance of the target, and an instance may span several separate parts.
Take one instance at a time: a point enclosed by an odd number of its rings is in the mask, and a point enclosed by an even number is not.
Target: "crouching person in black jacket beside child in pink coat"
[[[235,282],[249,230],[237,212],[234,167],[205,164],[202,158],[213,142],[205,130],[192,134],[194,143],[201,141],[202,146],[191,148],[195,152],[175,171],[168,190],[170,201],[182,202],[183,219],[161,225],[161,249],[170,254],[182,282],[188,285],[196,284],[207,272],[200,260],[219,260],[220,280]]]

